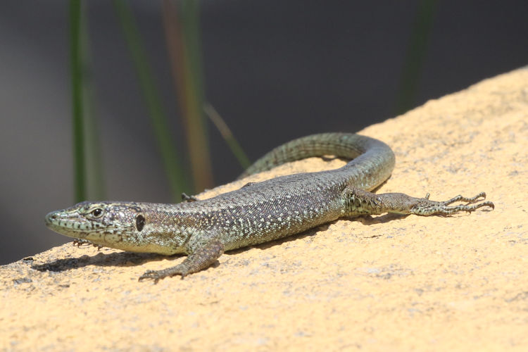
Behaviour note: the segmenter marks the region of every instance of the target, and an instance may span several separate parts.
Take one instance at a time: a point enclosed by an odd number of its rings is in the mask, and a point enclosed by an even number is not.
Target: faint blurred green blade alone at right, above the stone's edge
[[[397,115],[405,113],[413,107],[435,11],[436,0],[421,0],[418,2],[415,23],[410,35],[410,44],[406,54],[406,61],[403,63],[400,87],[396,98]]]

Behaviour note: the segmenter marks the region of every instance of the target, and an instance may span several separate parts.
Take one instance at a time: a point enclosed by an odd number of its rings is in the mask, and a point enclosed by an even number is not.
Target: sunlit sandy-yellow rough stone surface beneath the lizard
[[[378,192],[486,191],[495,210],[338,220],[158,284],[137,278],[183,258],[66,244],[0,267],[0,349],[527,351],[528,70],[361,133],[396,153]]]

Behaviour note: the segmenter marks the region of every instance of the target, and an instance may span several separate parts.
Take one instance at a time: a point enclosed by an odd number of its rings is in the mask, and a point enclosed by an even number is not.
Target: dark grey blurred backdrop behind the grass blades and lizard
[[[423,4],[433,6],[422,15]],[[161,1],[128,1],[170,134],[187,144]],[[87,2],[106,199],[173,198],[111,1]],[[528,1],[200,1],[207,101],[251,160],[306,134],[355,132],[528,61]],[[68,238],[44,215],[75,203],[68,1],[0,5],[0,264]],[[420,19],[430,15],[430,26]],[[428,28],[418,61],[416,28]],[[413,39],[414,38],[414,39]],[[415,74],[412,68],[416,68]],[[406,73],[407,70],[407,73]],[[241,172],[207,122],[214,184]],[[88,149],[86,153],[91,153]],[[187,157],[183,157],[187,161]],[[190,193],[194,190],[189,189]]]

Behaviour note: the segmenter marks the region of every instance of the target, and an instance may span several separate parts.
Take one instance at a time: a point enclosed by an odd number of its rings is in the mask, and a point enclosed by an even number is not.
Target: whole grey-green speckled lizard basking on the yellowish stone
[[[338,218],[382,213],[451,215],[494,209],[481,192],[448,201],[402,193],[375,194],[394,169],[391,148],[377,139],[351,133],[322,133],[294,139],[265,154],[241,177],[312,156],[351,159],[334,170],[303,172],[249,182],[240,189],[199,200],[182,194],[175,204],[84,201],[46,215],[49,229],[93,244],[132,252],[187,254],[182,263],[147,270],[139,277],[182,278],[208,268],[225,251],[298,234]],[[451,205],[457,201],[465,202]]]

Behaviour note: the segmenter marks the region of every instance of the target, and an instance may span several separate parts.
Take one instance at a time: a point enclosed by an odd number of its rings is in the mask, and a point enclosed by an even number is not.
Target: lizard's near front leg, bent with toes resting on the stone
[[[182,275],[183,279],[193,272],[208,268],[224,253],[224,244],[222,244],[220,237],[213,234],[206,236],[206,239],[196,241],[196,243],[189,242],[189,256],[182,263],[163,270],[146,270],[139,277],[139,281],[153,279],[154,283],[157,284],[160,279],[175,275]]]

